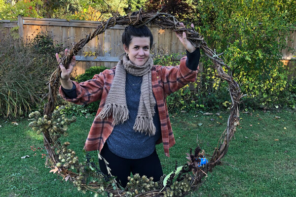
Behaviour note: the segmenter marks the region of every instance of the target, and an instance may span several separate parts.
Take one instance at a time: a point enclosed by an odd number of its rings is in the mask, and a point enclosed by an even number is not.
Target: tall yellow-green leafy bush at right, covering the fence
[[[216,54],[224,53],[222,58],[230,67],[225,70],[247,95],[243,98],[247,107],[295,106],[295,82],[288,80],[289,72],[281,62],[281,49],[287,47],[286,37],[295,29],[294,1],[193,2],[198,32],[216,49]],[[206,59],[201,62],[204,65],[201,84],[210,86],[202,88],[202,92],[217,95],[221,89],[226,90],[227,84],[216,83],[219,79],[210,67],[212,62]]]

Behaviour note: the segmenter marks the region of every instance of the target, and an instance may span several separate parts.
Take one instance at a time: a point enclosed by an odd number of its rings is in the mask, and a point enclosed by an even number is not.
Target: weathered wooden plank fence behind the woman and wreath
[[[72,43],[85,37],[93,32],[99,22],[96,21],[79,21],[63,19],[39,19],[29,17],[18,17],[18,21],[0,21],[2,28],[9,30],[14,27],[18,28],[18,33],[24,40],[34,38],[38,33],[49,35],[55,44],[64,47],[71,47]],[[182,53],[185,49],[179,39],[170,30],[161,30],[158,27],[149,27],[153,34],[152,55],[168,55],[170,53]],[[121,43],[121,35],[124,31],[123,26],[115,25],[113,28],[106,30],[105,33],[98,35],[86,44],[76,56],[78,61],[75,67],[76,74],[84,73],[85,69],[90,66],[113,67],[119,60],[120,55],[124,53]],[[294,40],[294,42],[292,41]],[[289,47],[296,50],[296,32],[291,32],[287,38]],[[84,57],[84,52],[95,52],[95,56]],[[295,69],[296,54],[291,53],[288,49],[282,51],[284,64]],[[293,60],[293,61],[292,61]],[[295,74],[294,74],[295,75]]]

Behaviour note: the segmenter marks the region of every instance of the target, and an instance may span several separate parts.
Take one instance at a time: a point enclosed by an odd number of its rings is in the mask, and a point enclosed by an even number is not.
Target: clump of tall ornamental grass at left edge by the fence
[[[38,40],[35,40],[37,44]],[[54,56],[0,36],[0,116],[15,118],[43,105],[46,83],[56,68]]]

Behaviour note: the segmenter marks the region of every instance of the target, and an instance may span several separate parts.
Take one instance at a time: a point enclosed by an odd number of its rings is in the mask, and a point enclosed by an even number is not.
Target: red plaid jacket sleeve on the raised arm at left
[[[69,98],[60,86],[59,92],[63,99],[73,102],[75,104],[87,104],[97,100],[100,100],[102,97],[102,92],[105,84],[105,75],[104,73],[96,74],[91,80],[77,83],[72,81],[76,87],[76,98]]]

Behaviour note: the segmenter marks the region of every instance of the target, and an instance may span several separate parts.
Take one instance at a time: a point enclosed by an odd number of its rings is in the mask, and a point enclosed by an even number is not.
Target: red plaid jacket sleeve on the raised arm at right
[[[163,82],[163,89],[165,96],[176,92],[180,88],[184,87],[189,82],[196,80],[197,70],[190,70],[186,66],[187,57],[180,60],[179,66],[162,66],[161,67],[161,80]],[[198,64],[198,62],[196,63]]]

